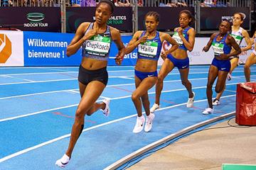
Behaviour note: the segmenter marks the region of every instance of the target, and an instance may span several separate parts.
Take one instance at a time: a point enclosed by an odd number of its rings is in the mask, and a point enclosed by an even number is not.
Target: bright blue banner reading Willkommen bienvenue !
[[[23,33],[25,66],[78,66],[80,64],[81,50],[71,57],[65,55],[74,34]]]

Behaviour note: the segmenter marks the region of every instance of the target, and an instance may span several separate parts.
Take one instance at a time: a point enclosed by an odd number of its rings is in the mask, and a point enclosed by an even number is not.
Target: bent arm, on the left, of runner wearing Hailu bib
[[[132,40],[130,40],[129,44],[125,48],[125,54],[131,53],[141,42],[146,42],[147,36],[144,35],[142,38],[139,38],[140,35],[142,35],[142,31],[134,33]]]

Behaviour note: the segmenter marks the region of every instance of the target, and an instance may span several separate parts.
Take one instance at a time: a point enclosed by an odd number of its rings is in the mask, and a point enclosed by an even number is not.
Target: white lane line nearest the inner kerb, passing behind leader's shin
[[[223,98],[228,98],[228,97],[233,97],[233,96],[235,96],[235,95],[223,96]],[[201,101],[207,101],[207,99],[203,99],[203,100],[200,100],[200,101],[194,101],[194,103],[198,103],[198,102],[201,102]],[[166,107],[166,108],[159,108],[158,111],[162,111],[162,110],[169,109],[169,108],[175,108],[175,107],[183,106],[183,105],[186,105],[186,103],[180,103],[180,104],[177,104],[177,105],[174,105],[174,106],[168,106],[168,107]],[[143,114],[144,114],[144,113],[145,113],[145,112],[143,112]],[[82,130],[82,132],[86,132],[86,131],[88,131],[88,130],[93,130],[93,129],[95,129],[95,128],[100,128],[100,127],[105,126],[105,125],[110,125],[110,124],[112,124],[112,123],[117,123],[117,122],[119,122],[119,121],[121,121],[121,120],[126,120],[126,119],[128,119],[128,118],[132,118],[132,117],[135,117],[135,116],[137,116],[137,114],[129,115],[129,116],[127,116],[127,117],[119,118],[119,119],[117,119],[117,120],[112,120],[112,121],[110,121],[110,122],[102,123],[102,124],[100,124],[100,125],[95,125],[95,126],[92,126],[92,127],[90,127],[90,128],[86,128],[86,129]],[[48,144],[50,144],[50,143],[56,142],[56,141],[58,141],[58,140],[63,140],[63,139],[66,138],[66,137],[70,137],[70,135],[71,135],[71,134],[63,135],[63,136],[57,137],[57,138],[55,138],[55,139],[53,139],[53,140],[49,140],[49,141],[47,141],[47,142],[43,142],[43,143],[41,143],[41,144],[39,144],[39,145],[36,145],[36,146],[34,146],[34,147],[29,147],[29,148],[27,148],[27,149],[23,149],[23,150],[21,150],[21,151],[19,151],[19,152],[16,152],[16,153],[14,153],[14,154],[10,154],[10,155],[8,155],[8,156],[6,156],[6,157],[1,158],[1,159],[0,159],[0,163],[6,161],[6,160],[8,160],[8,159],[11,159],[11,158],[13,158],[13,157],[17,157],[18,155],[21,155],[21,154],[24,154],[24,153],[26,153],[26,152],[29,152],[29,151],[31,151],[31,150],[33,150],[33,149],[37,149],[37,148],[39,148],[39,147],[43,147],[43,146],[48,145]]]

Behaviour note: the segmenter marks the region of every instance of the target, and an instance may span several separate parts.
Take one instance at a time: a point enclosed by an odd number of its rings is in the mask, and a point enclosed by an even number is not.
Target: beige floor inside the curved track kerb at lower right
[[[235,118],[230,125],[238,125]],[[160,149],[129,169],[220,170],[222,164],[256,164],[256,126],[228,120]],[[227,127],[228,128],[220,128]]]

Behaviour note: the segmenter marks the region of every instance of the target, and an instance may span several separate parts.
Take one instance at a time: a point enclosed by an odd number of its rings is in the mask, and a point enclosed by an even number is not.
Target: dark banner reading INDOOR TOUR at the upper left
[[[60,8],[1,7],[0,27],[18,30],[60,32]]]

